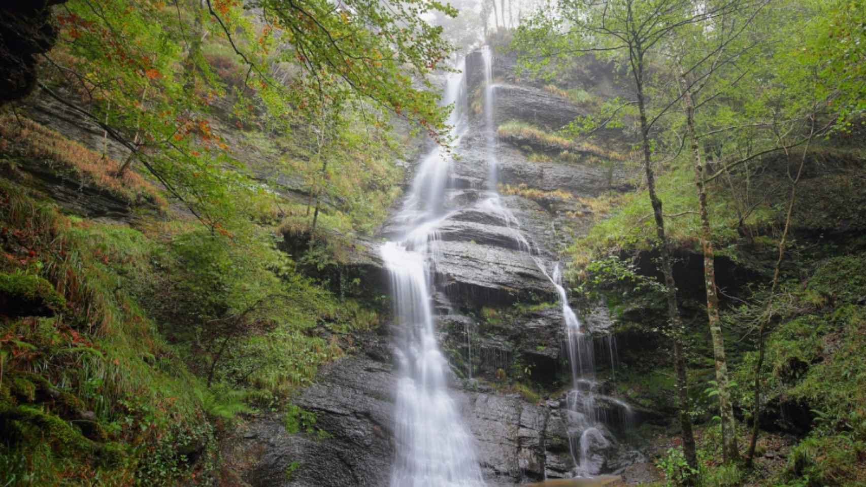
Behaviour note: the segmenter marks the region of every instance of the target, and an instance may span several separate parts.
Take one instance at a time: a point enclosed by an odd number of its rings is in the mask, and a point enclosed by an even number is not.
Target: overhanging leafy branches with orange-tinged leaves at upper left
[[[438,138],[446,109],[426,78],[450,46],[441,27],[422,20],[434,11],[456,14],[436,2],[334,10],[317,0],[72,0],[56,8],[60,42],[43,56],[40,84],[126,148],[120,172],[140,163],[216,231],[231,213],[220,208],[226,190],[249,184],[210,124],[216,99],[234,102],[238,124],[271,131],[291,131],[343,99]],[[215,48],[216,58],[206,52]]]

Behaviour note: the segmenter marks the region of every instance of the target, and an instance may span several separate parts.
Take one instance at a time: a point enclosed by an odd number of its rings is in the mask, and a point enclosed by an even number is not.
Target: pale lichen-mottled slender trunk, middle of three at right
[[[707,189],[703,181],[703,163],[701,149],[698,146],[695,131],[695,103],[689,91],[686,80],[681,79],[683,86],[682,102],[686,106],[686,127],[688,138],[691,139],[690,149],[692,163],[695,166],[695,188],[698,192],[698,213],[701,215],[701,247],[704,254],[704,285],[707,286],[707,317],[709,334],[713,338],[713,356],[715,359],[715,381],[719,390],[719,416],[721,417],[721,457],[723,462],[731,462],[740,458],[737,447],[737,423],[734,419],[734,405],[731,401],[730,381],[727,375],[727,360],[725,358],[725,336],[721,333],[721,318],[719,317],[719,294],[715,285],[715,250],[709,227],[707,210]]]

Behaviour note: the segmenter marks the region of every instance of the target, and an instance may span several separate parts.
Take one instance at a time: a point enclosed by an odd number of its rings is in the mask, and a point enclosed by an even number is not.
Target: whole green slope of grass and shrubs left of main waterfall
[[[339,336],[378,324],[294,271],[251,221],[101,224],[10,183],[0,201],[0,477],[12,484],[207,484],[237,413],[285,407],[343,353]]]

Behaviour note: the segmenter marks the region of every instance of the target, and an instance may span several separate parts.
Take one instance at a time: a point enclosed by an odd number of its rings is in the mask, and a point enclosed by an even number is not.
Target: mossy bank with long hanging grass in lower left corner
[[[0,271],[38,272],[67,304],[55,317],[4,321],[0,457],[12,470],[15,458],[39,463],[40,475],[27,477],[34,484],[69,472],[105,484],[123,477],[174,484],[192,467],[178,449],[195,445],[206,462],[213,426],[194,393],[197,380],[132,298],[128,283],[147,266],[147,240],[129,228],[70,220],[5,183],[0,191],[7,202],[0,221],[10,231],[0,244],[18,256]],[[9,474],[25,481],[20,471]]]

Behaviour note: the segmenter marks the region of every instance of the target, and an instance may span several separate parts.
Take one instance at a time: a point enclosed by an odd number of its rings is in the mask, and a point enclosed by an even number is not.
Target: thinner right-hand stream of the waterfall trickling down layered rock
[[[550,280],[559,295],[562,305],[562,315],[565,322],[566,352],[572,372],[572,390],[566,394],[566,419],[568,422],[569,445],[574,461],[573,475],[575,477],[591,477],[600,473],[598,462],[601,451],[611,446],[611,441],[605,437],[603,429],[606,418],[599,418],[597,394],[598,382],[595,381],[595,361],[593,357],[593,342],[591,336],[582,330],[577,314],[568,304],[568,296],[562,285],[562,273],[559,265],[554,266],[553,275],[546,270],[545,262],[534,252],[537,249],[530,240],[520,232],[519,222],[514,214],[506,208],[497,191],[498,161],[496,157],[496,126],[494,125],[494,89],[493,54],[490,48],[481,49],[484,65],[484,121],[488,151],[488,190],[490,196],[484,202],[484,208],[505,221],[507,227],[514,232],[514,240],[520,250],[527,252],[533,258],[540,271]],[[613,343],[611,349],[611,367],[614,360]],[[630,423],[631,409],[621,400],[601,396],[609,404],[617,407],[624,424]],[[603,462],[602,462],[603,463]]]

